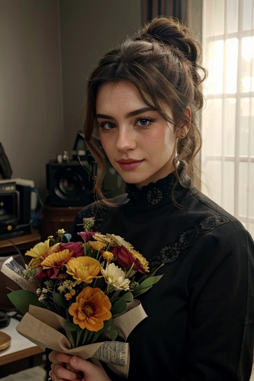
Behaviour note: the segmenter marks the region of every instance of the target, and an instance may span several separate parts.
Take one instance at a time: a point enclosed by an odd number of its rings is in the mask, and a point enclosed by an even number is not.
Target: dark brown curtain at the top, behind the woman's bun
[[[191,0],[141,0],[142,26],[157,16],[173,16],[189,24]]]

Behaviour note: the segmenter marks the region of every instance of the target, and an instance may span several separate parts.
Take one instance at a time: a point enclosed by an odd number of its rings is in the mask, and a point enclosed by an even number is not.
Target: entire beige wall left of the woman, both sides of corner
[[[44,196],[46,163],[82,128],[86,77],[140,12],[140,0],[0,0],[0,142],[13,178]]]

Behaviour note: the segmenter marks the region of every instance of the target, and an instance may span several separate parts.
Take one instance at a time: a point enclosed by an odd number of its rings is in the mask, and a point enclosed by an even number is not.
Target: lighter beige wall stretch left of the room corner
[[[0,0],[0,142],[42,195],[64,149],[58,0]]]

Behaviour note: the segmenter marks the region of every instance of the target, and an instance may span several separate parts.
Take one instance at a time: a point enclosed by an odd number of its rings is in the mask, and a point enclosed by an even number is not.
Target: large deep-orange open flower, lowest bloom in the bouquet
[[[68,312],[73,316],[74,324],[81,329],[99,331],[103,328],[104,320],[109,320],[111,303],[109,298],[99,289],[86,286],[76,297],[76,303],[72,303]]]

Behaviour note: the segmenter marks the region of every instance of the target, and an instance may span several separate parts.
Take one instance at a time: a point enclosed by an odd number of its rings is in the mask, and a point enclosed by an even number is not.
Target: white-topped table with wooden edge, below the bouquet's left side
[[[10,324],[0,329],[11,337],[9,348],[0,351],[0,366],[43,353],[44,351],[16,331],[19,321],[11,318]]]

